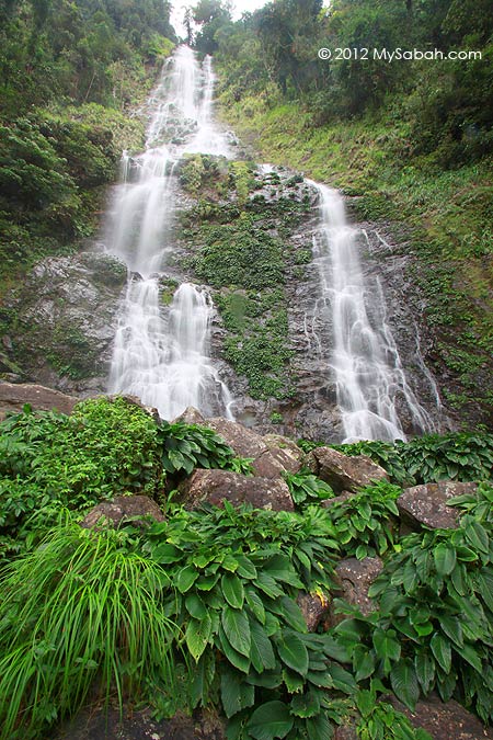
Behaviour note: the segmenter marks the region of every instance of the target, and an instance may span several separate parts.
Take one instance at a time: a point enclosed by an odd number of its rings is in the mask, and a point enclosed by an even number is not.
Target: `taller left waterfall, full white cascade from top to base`
[[[172,251],[175,178],[184,152],[229,155],[211,122],[214,75],[187,47],[164,67],[149,100],[144,153],[124,157],[106,242],[130,271],[118,320],[110,391],[138,396],[172,419],[187,406],[232,419],[233,399],[209,356],[214,307],[191,283],[176,291],[168,312],[160,300],[160,271]],[[169,139],[169,143],[163,143]]]

